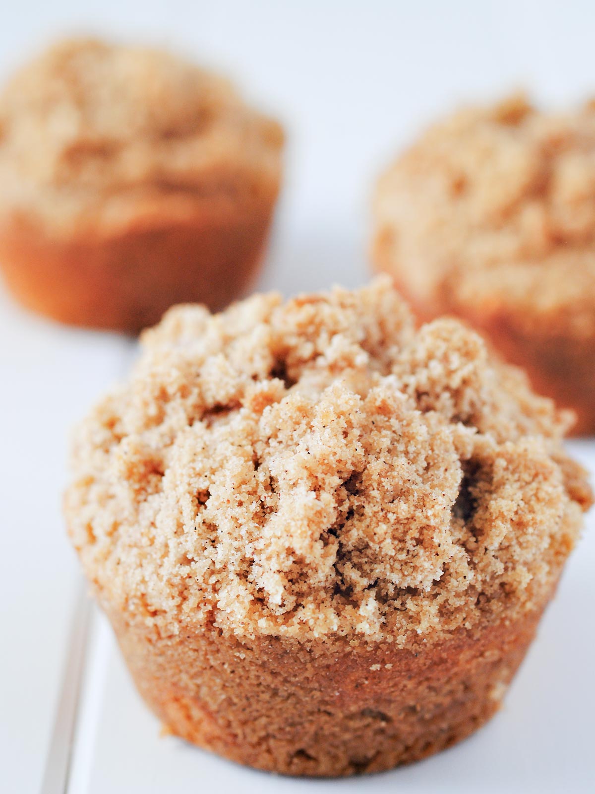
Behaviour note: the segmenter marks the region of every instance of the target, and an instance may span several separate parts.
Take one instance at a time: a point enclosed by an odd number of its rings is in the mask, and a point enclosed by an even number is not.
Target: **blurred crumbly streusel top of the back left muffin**
[[[66,40],[0,95],[0,210],[68,232],[278,189],[282,130],[168,52]],[[214,197],[214,198],[213,198]],[[157,201],[159,199],[159,201]]]

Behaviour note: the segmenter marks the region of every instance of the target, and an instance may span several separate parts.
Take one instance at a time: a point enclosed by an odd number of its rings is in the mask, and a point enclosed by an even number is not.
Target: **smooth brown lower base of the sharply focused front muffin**
[[[217,629],[159,638],[110,619],[141,696],[173,734],[271,772],[379,772],[459,742],[497,711],[542,609],[415,653],[240,642]]]

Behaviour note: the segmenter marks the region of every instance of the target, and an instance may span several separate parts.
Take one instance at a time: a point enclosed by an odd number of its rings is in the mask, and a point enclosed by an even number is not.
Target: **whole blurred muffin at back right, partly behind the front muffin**
[[[464,318],[595,432],[593,103],[447,118],[382,175],[374,225],[374,263],[420,318]]]

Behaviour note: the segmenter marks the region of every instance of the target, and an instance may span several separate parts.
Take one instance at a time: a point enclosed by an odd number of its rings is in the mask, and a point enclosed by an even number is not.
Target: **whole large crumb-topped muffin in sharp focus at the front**
[[[167,730],[339,776],[485,723],[590,503],[568,414],[459,322],[416,330],[389,279],[178,306],[142,347],[65,512]]]

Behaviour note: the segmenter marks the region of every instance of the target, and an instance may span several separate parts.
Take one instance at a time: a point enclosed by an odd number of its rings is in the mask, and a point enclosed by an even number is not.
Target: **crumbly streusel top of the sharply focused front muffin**
[[[590,500],[568,417],[378,279],[177,306],[75,437],[68,530],[161,634],[397,646],[530,609]]]

